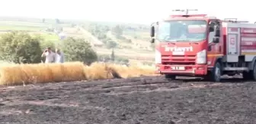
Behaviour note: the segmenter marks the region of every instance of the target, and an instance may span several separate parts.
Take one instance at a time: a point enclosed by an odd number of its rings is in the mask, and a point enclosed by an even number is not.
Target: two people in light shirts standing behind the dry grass
[[[43,51],[43,54],[41,57],[46,57],[46,60],[44,62],[46,64],[64,63],[64,54],[58,48],[56,48],[55,52],[53,52],[51,48],[46,48],[46,50]]]

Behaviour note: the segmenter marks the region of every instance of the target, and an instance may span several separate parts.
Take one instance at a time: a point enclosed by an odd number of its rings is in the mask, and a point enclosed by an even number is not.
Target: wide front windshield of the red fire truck
[[[206,39],[205,20],[170,20],[158,25],[160,42],[199,42]]]

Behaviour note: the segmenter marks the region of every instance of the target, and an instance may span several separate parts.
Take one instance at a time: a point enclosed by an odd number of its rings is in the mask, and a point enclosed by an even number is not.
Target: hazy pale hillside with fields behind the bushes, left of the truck
[[[82,38],[102,57],[114,48],[117,60],[152,64],[154,59],[149,27],[140,24],[0,17],[0,33],[10,31],[40,35],[50,44],[57,44],[61,36]]]

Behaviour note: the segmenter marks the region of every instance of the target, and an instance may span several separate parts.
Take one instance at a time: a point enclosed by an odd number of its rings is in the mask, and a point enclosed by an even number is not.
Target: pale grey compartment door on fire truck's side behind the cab
[[[238,35],[237,34],[229,34],[227,54],[239,54],[238,53]]]

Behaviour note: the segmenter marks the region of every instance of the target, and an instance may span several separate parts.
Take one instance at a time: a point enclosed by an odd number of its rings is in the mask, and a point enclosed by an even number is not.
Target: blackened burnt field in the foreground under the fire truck
[[[256,83],[160,77],[0,88],[0,123],[254,124]]]

